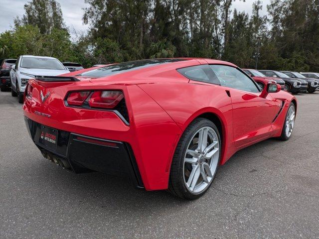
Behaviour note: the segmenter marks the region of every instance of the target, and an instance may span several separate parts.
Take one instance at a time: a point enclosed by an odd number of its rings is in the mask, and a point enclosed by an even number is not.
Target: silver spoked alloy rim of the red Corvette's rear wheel
[[[184,183],[190,193],[200,194],[211,184],[219,161],[219,145],[211,127],[202,127],[192,136],[183,163]]]

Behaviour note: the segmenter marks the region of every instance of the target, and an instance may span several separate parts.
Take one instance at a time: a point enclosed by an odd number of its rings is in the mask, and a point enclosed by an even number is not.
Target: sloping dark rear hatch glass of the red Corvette
[[[99,69],[83,72],[77,76],[100,78],[105,76],[111,76],[128,71],[138,70],[151,66],[156,66],[164,63],[184,61],[185,59],[149,59],[139,61],[128,61],[123,63],[116,63],[110,66],[101,67]]]

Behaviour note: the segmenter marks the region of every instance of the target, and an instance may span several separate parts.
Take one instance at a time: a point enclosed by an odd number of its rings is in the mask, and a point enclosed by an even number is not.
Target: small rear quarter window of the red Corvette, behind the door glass
[[[177,69],[177,71],[189,80],[220,85],[218,78],[208,65],[190,66]]]

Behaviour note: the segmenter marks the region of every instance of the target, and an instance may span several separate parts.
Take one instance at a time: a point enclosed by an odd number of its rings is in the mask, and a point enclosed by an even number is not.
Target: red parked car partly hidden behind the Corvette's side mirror
[[[298,94],[300,92],[307,92],[308,85],[302,85],[300,81],[290,78],[289,76],[285,75],[280,71],[273,71],[273,70],[258,70],[266,76],[269,77],[279,77],[285,81],[285,91]]]

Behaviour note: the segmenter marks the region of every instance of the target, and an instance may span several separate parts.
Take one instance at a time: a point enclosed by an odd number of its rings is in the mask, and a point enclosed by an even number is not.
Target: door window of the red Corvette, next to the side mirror
[[[259,92],[255,83],[235,67],[224,65],[210,65],[210,67],[222,86],[248,92]]]

